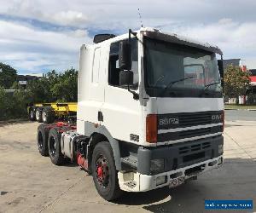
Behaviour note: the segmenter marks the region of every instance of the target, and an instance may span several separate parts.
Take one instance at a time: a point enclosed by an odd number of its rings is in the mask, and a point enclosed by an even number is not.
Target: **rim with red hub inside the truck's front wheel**
[[[109,167],[108,160],[105,156],[100,155],[96,160],[96,180],[102,187],[108,187],[109,184]]]

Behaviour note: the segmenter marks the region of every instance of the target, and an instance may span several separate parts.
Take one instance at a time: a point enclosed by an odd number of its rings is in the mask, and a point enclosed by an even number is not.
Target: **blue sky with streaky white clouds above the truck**
[[[79,68],[97,33],[143,26],[218,45],[224,59],[256,68],[254,0],[0,0],[0,62],[20,74]]]

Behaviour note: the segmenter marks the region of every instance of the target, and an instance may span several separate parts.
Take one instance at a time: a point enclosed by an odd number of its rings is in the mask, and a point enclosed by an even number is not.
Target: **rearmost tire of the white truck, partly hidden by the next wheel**
[[[49,156],[48,152],[48,136],[49,130],[45,129],[45,124],[38,126],[38,151],[42,156]]]

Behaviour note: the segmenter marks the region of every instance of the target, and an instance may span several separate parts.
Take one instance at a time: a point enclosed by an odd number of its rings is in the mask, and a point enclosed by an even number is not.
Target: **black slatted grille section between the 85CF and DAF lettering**
[[[179,127],[205,125],[212,123],[211,112],[181,113],[178,116]]]

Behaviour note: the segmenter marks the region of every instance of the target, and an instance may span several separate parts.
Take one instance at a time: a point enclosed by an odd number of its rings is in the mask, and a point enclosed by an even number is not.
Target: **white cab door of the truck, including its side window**
[[[132,67],[134,82],[131,86],[138,93],[139,67],[137,40],[132,39]],[[140,101],[134,100],[133,95],[119,86],[119,42],[111,43],[108,52],[108,83],[105,87],[105,101],[102,105],[102,124],[113,138],[121,141],[138,143],[142,126]]]

